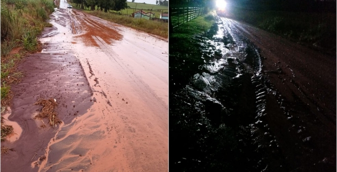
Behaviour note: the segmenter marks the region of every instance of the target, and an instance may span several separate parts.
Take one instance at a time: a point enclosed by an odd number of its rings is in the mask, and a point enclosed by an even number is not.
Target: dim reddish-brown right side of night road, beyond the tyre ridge
[[[336,55],[226,21],[260,48],[263,73],[280,94],[267,95],[266,120],[274,124],[271,131],[279,138],[289,168],[336,171]],[[288,114],[276,106],[280,100],[290,109]]]

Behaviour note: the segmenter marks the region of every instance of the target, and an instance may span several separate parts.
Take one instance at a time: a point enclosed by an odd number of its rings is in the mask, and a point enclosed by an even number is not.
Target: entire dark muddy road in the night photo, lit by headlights
[[[170,47],[170,170],[336,171],[335,55],[227,18],[192,46]]]

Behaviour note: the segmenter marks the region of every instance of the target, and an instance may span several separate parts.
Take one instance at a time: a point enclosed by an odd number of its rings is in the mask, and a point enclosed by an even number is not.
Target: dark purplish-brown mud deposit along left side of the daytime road
[[[23,132],[18,141],[1,143],[13,149],[8,155],[1,155],[2,172],[37,171],[31,169],[31,162],[45,154],[49,140],[59,128],[39,128],[42,121],[33,119],[40,108],[33,105],[38,97],[55,98],[59,103],[57,112],[65,124],[86,113],[92,105],[91,88],[74,56],[36,53],[26,57],[18,70],[25,73],[25,78],[12,86],[15,96],[9,119],[18,122]],[[47,119],[43,121],[48,123]]]

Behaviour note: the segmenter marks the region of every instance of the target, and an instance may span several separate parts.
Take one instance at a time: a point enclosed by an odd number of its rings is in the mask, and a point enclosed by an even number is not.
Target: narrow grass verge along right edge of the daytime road
[[[113,13],[105,13],[99,10],[90,11],[84,10],[78,7],[73,7],[81,10],[82,12],[89,13],[93,16],[99,17],[104,20],[108,20],[117,24],[121,24],[133,29],[138,29],[147,33],[158,35],[164,38],[168,37],[168,23],[150,21],[146,19],[135,19],[129,16],[123,16]]]

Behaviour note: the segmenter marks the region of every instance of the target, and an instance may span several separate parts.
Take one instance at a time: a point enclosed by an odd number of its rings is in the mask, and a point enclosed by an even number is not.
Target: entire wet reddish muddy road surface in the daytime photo
[[[1,172],[167,172],[168,41],[66,8],[25,58]],[[55,98],[62,120],[33,117]],[[21,130],[20,130],[21,128]]]

